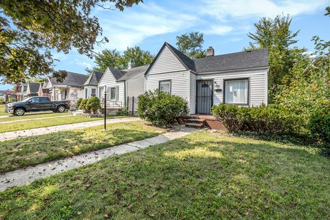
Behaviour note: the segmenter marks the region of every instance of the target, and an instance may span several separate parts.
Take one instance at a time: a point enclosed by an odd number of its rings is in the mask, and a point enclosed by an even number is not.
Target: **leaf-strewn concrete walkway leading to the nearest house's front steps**
[[[12,172],[0,175],[0,191],[3,191],[12,186],[23,186],[25,184],[30,184],[36,179],[48,177],[56,173],[62,173],[66,170],[71,170],[79,166],[92,164],[106,157],[137,151],[139,149],[146,148],[155,144],[162,144],[178,137],[184,137],[194,131],[201,130],[186,128],[185,126],[177,126],[175,129],[168,133],[147,138],[145,140],[131,142],[128,144],[120,144],[118,146],[111,146],[109,148],[103,148],[97,151],[83,153],[74,157],[67,157],[65,159],[58,159],[56,161],[48,162],[45,164],[39,164],[24,169],[14,170]]]

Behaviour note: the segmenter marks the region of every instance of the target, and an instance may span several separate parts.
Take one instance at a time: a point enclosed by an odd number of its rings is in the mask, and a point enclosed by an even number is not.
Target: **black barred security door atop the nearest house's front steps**
[[[197,112],[199,114],[210,114],[213,104],[212,80],[197,81]]]

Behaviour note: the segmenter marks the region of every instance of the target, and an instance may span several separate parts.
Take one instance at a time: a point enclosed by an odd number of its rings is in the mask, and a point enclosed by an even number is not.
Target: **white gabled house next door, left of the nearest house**
[[[107,68],[98,85],[97,96],[104,100],[104,88],[107,89],[107,106],[126,107],[127,98],[137,98],[144,93],[144,73],[148,65],[134,67],[133,61],[128,69]]]

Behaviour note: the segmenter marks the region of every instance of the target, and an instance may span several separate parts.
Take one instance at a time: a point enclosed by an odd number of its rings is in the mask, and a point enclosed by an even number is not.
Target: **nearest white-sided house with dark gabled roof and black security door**
[[[267,104],[268,50],[252,50],[192,60],[164,43],[145,73],[145,91],[181,96],[190,114],[210,114],[221,102],[239,106]]]

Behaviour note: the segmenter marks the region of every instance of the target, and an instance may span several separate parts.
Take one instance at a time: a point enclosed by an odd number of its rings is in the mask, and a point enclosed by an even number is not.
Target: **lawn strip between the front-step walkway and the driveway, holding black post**
[[[103,126],[94,126],[8,140],[0,143],[0,173],[107,146],[143,140],[163,132],[164,129],[139,121],[108,124],[107,131],[104,131]]]

